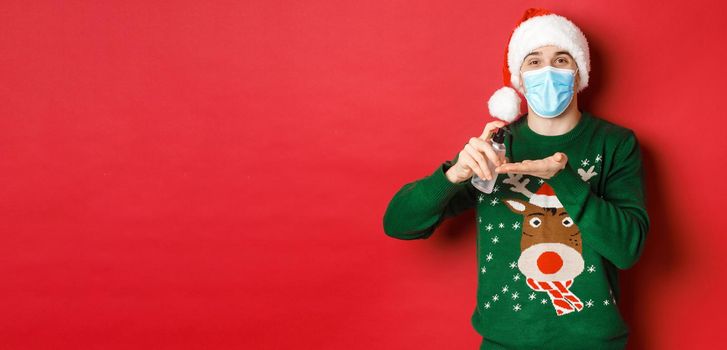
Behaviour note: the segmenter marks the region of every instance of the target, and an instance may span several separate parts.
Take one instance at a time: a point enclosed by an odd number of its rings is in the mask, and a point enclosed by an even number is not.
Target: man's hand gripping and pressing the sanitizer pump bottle
[[[491,180],[496,174],[492,173],[487,166],[489,159],[495,166],[507,163],[505,158],[501,161],[490,144],[494,130],[507,125],[502,120],[495,120],[485,125],[485,130],[480,137],[472,137],[465,144],[457,156],[457,162],[447,170],[447,179],[452,183],[460,183],[477,174],[482,179]]]

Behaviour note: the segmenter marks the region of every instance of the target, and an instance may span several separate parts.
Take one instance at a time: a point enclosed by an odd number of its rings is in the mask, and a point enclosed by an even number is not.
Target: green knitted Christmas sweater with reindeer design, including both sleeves
[[[451,183],[446,161],[404,185],[384,214],[397,239],[432,235],[477,210],[477,305],[472,325],[487,349],[622,349],[618,269],[639,259],[650,222],[634,132],[583,112],[576,127],[540,135],[521,117],[506,133],[510,162],[568,155],[550,179],[499,174],[485,194]]]

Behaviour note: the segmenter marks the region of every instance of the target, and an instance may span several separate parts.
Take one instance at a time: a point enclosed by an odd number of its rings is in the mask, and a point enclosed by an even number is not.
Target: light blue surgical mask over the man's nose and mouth
[[[573,99],[576,70],[545,66],[523,72],[525,99],[543,118],[559,116]]]

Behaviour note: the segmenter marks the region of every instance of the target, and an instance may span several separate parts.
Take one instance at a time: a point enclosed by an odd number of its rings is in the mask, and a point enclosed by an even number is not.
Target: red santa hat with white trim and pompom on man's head
[[[493,117],[512,122],[520,115],[521,100],[517,92],[525,93],[520,81],[520,66],[525,56],[547,45],[568,51],[575,59],[580,77],[576,92],[588,86],[591,63],[586,36],[565,17],[546,9],[530,8],[517,23],[505,49],[505,64],[502,69],[505,86],[495,91],[487,103]]]

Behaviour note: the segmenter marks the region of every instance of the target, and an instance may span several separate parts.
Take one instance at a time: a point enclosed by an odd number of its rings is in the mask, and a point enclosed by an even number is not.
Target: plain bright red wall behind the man
[[[582,109],[642,144],[631,348],[716,344],[727,8],[649,4],[4,1],[2,348],[477,348],[474,212],[382,218],[492,120],[530,6],[583,29]]]

